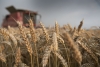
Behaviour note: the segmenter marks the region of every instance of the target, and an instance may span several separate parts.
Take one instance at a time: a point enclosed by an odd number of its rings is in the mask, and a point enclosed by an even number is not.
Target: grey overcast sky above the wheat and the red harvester
[[[0,22],[6,14],[5,7],[37,11],[45,26],[70,24],[78,26],[84,18],[83,28],[100,26],[100,0],[0,0]]]

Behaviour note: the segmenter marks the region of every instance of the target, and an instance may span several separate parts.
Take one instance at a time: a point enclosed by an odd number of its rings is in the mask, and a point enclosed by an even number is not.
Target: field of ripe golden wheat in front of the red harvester
[[[60,27],[0,28],[0,67],[100,67],[100,29]]]

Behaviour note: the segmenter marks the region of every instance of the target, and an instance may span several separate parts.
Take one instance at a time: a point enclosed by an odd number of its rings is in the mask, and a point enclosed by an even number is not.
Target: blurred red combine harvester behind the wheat
[[[9,11],[9,15],[6,15],[2,27],[17,27],[18,24],[16,21],[19,21],[23,26],[28,27],[29,22],[27,19],[31,19],[34,23],[34,27],[36,27],[37,24],[37,15],[41,19],[41,15],[37,12],[29,11],[29,10],[23,10],[23,9],[16,9],[14,6],[9,6],[6,8],[7,11]],[[16,20],[14,20],[14,19]]]

